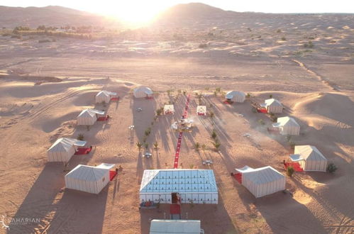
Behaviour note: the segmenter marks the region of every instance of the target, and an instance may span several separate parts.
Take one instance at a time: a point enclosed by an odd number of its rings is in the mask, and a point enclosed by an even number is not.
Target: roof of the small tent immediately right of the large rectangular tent
[[[243,167],[241,169],[238,169],[238,171],[241,172],[244,176],[247,176],[247,178],[255,184],[267,184],[284,178],[283,174],[281,174],[276,169],[270,166],[260,167],[256,169],[253,169],[252,167],[248,166],[246,167],[246,169],[244,169],[245,167]],[[242,169],[244,170],[242,171]]]

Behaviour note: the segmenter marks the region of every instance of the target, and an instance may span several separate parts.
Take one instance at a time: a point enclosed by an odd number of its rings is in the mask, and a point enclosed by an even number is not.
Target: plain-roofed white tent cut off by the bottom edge
[[[150,234],[162,233],[200,234],[204,233],[204,230],[201,229],[200,221],[197,220],[153,219],[150,225]]]

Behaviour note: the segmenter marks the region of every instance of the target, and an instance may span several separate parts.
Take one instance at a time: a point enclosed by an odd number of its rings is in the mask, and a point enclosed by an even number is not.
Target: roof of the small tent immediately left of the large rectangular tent
[[[67,173],[66,177],[96,182],[99,179],[102,179],[107,172],[109,172],[109,169],[87,165],[77,165],[74,169]]]

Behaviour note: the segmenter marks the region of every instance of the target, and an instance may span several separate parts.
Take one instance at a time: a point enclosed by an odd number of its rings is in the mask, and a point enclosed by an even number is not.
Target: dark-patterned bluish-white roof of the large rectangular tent
[[[145,169],[140,184],[140,193],[158,193],[162,184],[163,186],[171,184],[173,188],[170,190],[176,192],[218,191],[212,169]],[[187,184],[192,185],[190,189],[184,188]],[[177,189],[174,189],[175,186]],[[203,189],[200,189],[201,187]]]

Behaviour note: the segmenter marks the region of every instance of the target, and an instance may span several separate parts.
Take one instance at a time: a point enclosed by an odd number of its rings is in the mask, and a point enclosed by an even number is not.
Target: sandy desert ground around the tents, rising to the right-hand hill
[[[40,222],[1,232],[149,233],[150,221],[165,218],[169,207],[140,211],[140,180],[144,169],[173,167],[178,133],[170,126],[190,94],[194,129],[183,135],[179,168],[214,169],[219,204],[183,204],[182,218],[201,220],[205,233],[354,233],[353,14],[236,13],[188,4],[151,26],[110,24],[119,29],[81,38],[38,30],[13,36],[9,28],[23,21],[10,16],[0,14],[0,215]],[[32,28],[45,24],[28,22]],[[133,98],[140,85],[153,89],[152,100]],[[103,89],[118,92],[119,101],[94,104]],[[249,96],[242,104],[224,104],[230,90]],[[279,117],[300,124],[300,135],[267,132],[271,118],[254,113],[251,104],[270,95],[285,107]],[[155,120],[157,108],[169,101],[176,113]],[[214,117],[197,116],[199,102]],[[84,108],[111,118],[87,130],[76,125]],[[145,140],[153,156],[145,158],[136,144],[149,127]],[[93,150],[74,155],[69,169],[101,162],[123,168],[100,194],[65,189],[64,166],[47,162],[57,138],[79,134]],[[204,147],[197,150],[196,143]],[[287,177],[287,193],[260,199],[230,176],[245,165],[270,165],[285,175],[291,143],[316,145],[338,170],[296,172]]]

